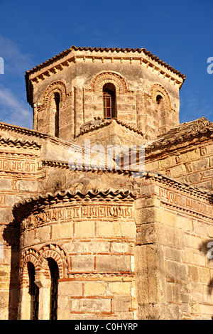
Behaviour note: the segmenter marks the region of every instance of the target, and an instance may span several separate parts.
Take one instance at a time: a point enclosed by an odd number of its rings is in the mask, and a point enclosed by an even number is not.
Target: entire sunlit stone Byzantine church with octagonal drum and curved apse
[[[180,124],[184,81],[144,48],[26,72],[33,129],[0,122],[1,319],[212,318],[213,124]]]

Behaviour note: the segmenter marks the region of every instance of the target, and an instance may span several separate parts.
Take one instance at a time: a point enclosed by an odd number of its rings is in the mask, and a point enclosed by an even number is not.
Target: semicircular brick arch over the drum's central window
[[[116,95],[124,94],[129,91],[129,87],[124,77],[117,72],[101,72],[92,80],[91,90],[93,92],[103,92],[103,86],[106,83],[112,83],[116,87]]]

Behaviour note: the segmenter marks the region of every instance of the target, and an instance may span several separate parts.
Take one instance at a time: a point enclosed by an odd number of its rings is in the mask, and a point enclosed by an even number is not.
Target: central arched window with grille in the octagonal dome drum
[[[116,87],[107,83],[103,87],[104,119],[116,117]]]

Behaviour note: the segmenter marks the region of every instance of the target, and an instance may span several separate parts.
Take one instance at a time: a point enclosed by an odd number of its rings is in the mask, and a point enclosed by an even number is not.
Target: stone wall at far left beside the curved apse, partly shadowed
[[[39,147],[1,139],[0,149],[0,318],[16,319],[18,304],[19,227],[14,203],[38,192],[35,180]]]

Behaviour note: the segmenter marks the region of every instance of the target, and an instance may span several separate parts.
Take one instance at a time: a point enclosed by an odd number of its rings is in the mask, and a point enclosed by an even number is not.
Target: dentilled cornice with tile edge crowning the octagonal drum
[[[152,71],[158,73],[158,75],[162,75],[164,79],[172,80],[173,84],[179,85],[180,88],[185,81],[185,75],[163,62],[163,60],[160,60],[145,48],[77,48],[71,46],[71,48],[26,72],[28,102],[31,104],[30,91],[33,85],[44,80],[45,77],[50,77],[58,71],[63,70],[63,68],[70,66],[71,63],[95,63],[96,61],[114,63],[114,61],[118,60],[121,64],[128,61],[129,64],[137,63],[138,65],[150,68]]]

